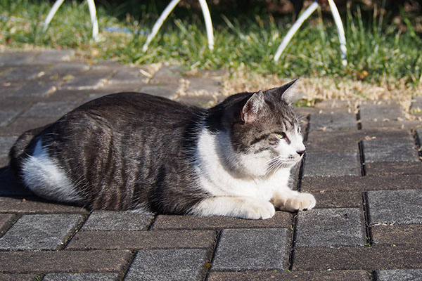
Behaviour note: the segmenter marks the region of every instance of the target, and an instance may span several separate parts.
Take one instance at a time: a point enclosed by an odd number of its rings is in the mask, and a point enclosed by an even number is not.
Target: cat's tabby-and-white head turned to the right
[[[296,79],[297,80],[297,79]],[[279,88],[240,93],[224,100],[226,161],[250,176],[266,176],[298,163],[305,152],[302,131],[289,98],[295,81]]]

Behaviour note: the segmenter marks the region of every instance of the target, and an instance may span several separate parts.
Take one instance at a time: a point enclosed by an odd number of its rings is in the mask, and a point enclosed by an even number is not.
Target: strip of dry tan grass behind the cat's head
[[[343,78],[319,77],[300,78],[297,91],[302,93],[302,106],[314,106],[321,100],[345,100],[350,107],[357,107],[364,100],[384,102],[392,100],[402,105],[405,112],[410,113],[411,99],[422,95],[422,84],[409,86],[404,81],[385,79],[381,86]],[[229,96],[242,91],[257,91],[271,89],[288,82],[276,74],[260,75],[256,73],[237,71],[227,74],[223,79],[222,93]],[[414,117],[408,116],[408,119]]]

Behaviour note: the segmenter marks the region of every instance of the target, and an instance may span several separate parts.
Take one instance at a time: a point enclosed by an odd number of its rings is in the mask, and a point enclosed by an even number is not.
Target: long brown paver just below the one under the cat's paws
[[[66,249],[209,249],[212,230],[79,231]]]

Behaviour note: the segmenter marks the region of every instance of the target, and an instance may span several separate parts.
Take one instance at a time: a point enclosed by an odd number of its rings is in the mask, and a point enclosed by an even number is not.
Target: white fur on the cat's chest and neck
[[[212,134],[203,129],[196,151],[196,172],[200,188],[212,196],[241,196],[269,201],[276,190],[287,188],[290,168],[269,176],[267,161],[236,155],[226,133]]]

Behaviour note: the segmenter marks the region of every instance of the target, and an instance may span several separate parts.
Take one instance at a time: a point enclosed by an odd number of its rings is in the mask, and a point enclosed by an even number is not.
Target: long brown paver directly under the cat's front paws
[[[155,218],[153,230],[200,230],[223,228],[290,228],[293,214],[276,211],[274,217],[266,220],[245,220],[223,216],[165,216]]]

